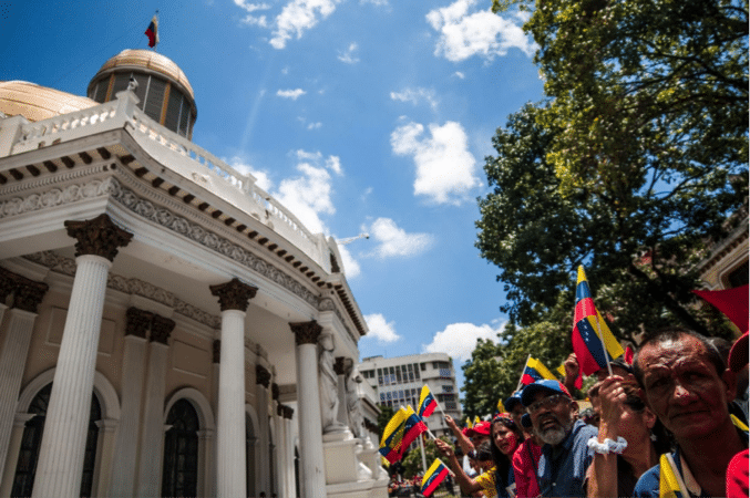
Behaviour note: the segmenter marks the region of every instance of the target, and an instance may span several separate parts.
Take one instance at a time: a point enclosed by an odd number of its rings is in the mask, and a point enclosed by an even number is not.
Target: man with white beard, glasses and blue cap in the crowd
[[[524,387],[521,403],[532,419],[534,434],[544,442],[536,470],[540,494],[585,497],[586,469],[594,458],[588,439],[597,428],[576,416],[578,404],[558,381],[536,381]]]

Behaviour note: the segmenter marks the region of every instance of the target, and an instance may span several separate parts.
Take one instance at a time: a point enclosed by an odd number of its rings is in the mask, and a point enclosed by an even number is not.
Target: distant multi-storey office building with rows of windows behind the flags
[[[378,404],[395,409],[411,405],[417,409],[422,386],[430,387],[440,408],[428,417],[428,428],[435,435],[450,435],[443,413],[456,423],[461,417],[459,388],[453,361],[445,353],[424,353],[386,359],[366,357],[359,365],[364,380],[374,390]]]

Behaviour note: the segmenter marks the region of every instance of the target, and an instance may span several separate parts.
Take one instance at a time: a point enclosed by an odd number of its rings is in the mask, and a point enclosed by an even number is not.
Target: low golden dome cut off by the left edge
[[[0,82],[0,113],[31,122],[99,105],[97,102],[27,81]]]

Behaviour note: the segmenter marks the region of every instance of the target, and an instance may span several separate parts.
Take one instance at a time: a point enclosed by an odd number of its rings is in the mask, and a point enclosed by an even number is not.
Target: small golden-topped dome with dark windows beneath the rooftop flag
[[[89,83],[88,95],[99,103],[116,98],[131,79],[138,108],[166,128],[191,138],[198,111],[187,76],[172,60],[153,50],[123,50],[106,61]]]

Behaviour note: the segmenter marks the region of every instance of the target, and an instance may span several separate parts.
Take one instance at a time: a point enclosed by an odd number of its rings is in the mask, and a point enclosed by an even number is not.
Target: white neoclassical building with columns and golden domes
[[[336,242],[192,143],[166,56],[0,82],[0,497],[384,497]]]

